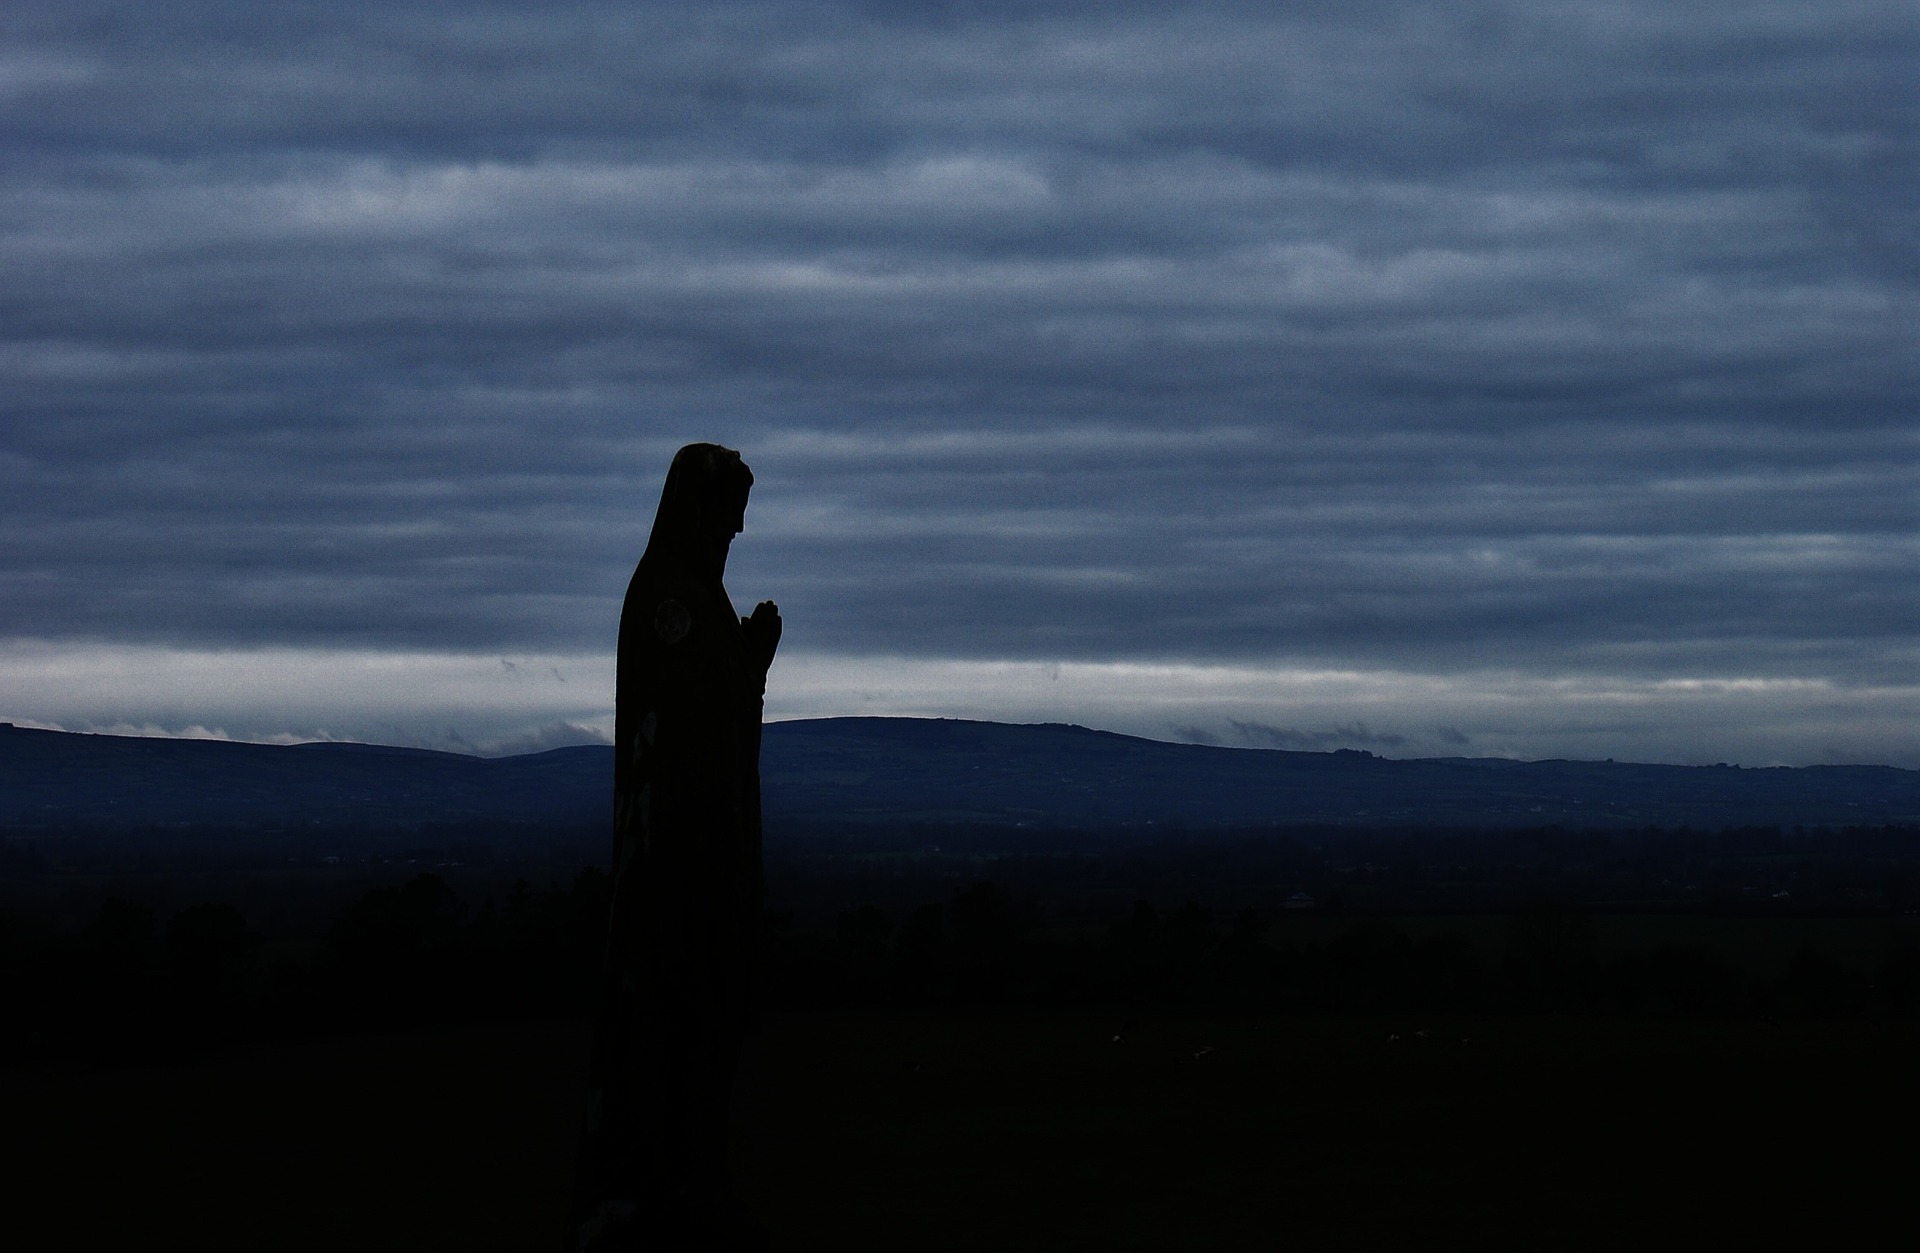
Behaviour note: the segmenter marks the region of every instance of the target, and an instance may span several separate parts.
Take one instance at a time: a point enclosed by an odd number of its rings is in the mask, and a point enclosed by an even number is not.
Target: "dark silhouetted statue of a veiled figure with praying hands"
[[[760,938],[760,704],[780,612],[720,578],[753,474],[674,455],[620,608],[612,915],[568,1247],[751,1245],[728,1111]]]

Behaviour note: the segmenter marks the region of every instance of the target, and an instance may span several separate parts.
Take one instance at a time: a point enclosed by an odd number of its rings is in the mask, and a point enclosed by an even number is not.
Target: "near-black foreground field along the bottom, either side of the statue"
[[[8,1245],[555,1249],[584,1046],[6,1075]],[[741,1170],[776,1249],[1910,1247],[1916,1059],[1849,1021],[787,1013]]]

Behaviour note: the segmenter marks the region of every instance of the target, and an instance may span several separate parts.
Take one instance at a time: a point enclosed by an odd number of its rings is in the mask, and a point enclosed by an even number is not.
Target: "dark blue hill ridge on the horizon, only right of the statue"
[[[770,814],[1033,825],[1693,825],[1920,817],[1920,769],[1388,760],[916,718],[768,727]]]

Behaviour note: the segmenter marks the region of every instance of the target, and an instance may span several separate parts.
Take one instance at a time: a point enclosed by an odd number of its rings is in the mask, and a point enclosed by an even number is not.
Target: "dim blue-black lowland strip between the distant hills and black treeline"
[[[202,900],[298,917],[315,931],[344,890],[434,871],[474,900],[516,877],[547,883],[605,858],[605,831],[505,821],[388,829],[0,831],[0,913],[104,881],[161,908]],[[1920,908],[1920,827],[1530,829],[1116,827],[785,823],[766,837],[768,892],[803,919],[902,910],[995,879],[1073,911],[1192,896],[1212,908],[1306,892],[1356,911],[1588,910],[1901,913]],[[365,883],[363,883],[365,881]],[[355,887],[355,885],[361,887]],[[100,896],[113,894],[111,890]],[[100,896],[88,902],[98,904]],[[317,915],[319,913],[319,915]],[[71,921],[71,919],[69,919]]]

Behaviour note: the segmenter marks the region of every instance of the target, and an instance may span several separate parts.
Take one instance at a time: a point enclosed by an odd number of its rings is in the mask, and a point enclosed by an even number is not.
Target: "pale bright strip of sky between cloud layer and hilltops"
[[[8,645],[0,718],[67,731],[342,739],[513,754],[605,743],[611,654]],[[1071,721],[1162,741],[1507,756],[1920,768],[1920,685],[1551,677],[795,650],[768,720]]]

